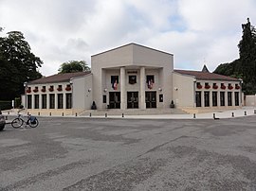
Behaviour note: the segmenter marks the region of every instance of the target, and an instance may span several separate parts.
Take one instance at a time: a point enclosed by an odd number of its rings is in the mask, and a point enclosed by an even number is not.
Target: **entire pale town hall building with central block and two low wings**
[[[221,85],[227,88],[221,89]],[[155,109],[157,113],[171,110],[172,101],[175,108],[194,113],[241,107],[240,87],[236,78],[208,71],[174,70],[173,54],[129,43],[92,56],[91,73],[54,75],[29,82],[23,101],[30,113],[80,114],[96,109],[93,102],[97,111],[147,113]]]

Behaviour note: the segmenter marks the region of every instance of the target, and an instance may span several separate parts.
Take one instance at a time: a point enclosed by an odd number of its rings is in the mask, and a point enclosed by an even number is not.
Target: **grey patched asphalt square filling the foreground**
[[[0,132],[0,190],[256,190],[256,116],[40,117]]]

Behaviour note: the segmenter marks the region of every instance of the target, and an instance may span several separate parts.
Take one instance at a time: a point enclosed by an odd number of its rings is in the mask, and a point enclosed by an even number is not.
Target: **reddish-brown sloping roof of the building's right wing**
[[[238,78],[231,78],[223,75],[218,75],[218,74],[208,73],[208,72],[201,72],[201,71],[174,70],[174,72],[181,75],[188,75],[196,79],[203,79],[203,80],[239,81]]]

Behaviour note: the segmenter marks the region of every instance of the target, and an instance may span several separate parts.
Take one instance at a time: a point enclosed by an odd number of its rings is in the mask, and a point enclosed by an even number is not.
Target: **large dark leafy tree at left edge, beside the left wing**
[[[38,67],[43,61],[36,57],[22,32],[11,31],[0,37],[0,100],[14,99],[24,93],[24,82],[41,78]]]

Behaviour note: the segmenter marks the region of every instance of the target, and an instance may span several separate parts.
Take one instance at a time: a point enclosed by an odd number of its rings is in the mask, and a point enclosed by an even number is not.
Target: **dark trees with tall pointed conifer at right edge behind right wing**
[[[256,30],[250,25],[242,25],[243,36],[239,42],[240,58],[230,63],[220,64],[213,73],[243,79],[243,91],[256,94]]]

